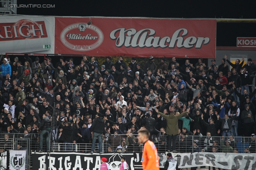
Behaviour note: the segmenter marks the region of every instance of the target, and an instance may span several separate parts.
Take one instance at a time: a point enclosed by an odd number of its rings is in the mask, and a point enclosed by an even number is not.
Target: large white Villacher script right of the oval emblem
[[[119,35],[118,35],[119,32]],[[165,37],[153,37],[156,34],[154,29],[141,29],[136,31],[134,28],[126,29],[118,28],[114,29],[110,33],[110,38],[116,40],[116,47],[154,47],[154,48],[196,48],[200,49],[202,45],[210,43],[209,37],[194,37],[190,36],[184,39],[183,37],[188,35],[188,30],[185,28],[178,29],[172,35],[172,38]],[[181,35],[180,35],[181,34]],[[127,36],[126,36],[127,35]],[[168,45],[169,43],[169,45]]]

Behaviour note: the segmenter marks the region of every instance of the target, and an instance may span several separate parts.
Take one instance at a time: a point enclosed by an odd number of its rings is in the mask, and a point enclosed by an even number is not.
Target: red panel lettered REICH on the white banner
[[[44,21],[19,20],[16,23],[0,23],[0,41],[46,38]]]

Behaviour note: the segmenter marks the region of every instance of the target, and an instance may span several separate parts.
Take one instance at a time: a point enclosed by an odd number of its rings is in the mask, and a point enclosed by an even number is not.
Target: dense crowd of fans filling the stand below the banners
[[[207,137],[201,141],[207,141],[211,136],[230,140],[230,135],[254,134],[256,90],[251,75],[256,66],[252,59],[232,64],[225,56],[220,66],[215,59],[206,66],[202,58],[193,65],[189,60],[177,63],[175,57],[169,63],[162,58],[156,65],[152,56],[143,66],[135,57],[130,63],[124,63],[123,57],[112,63],[106,57],[99,65],[94,57],[84,56],[77,66],[72,58],[60,57],[56,64],[50,57],[42,63],[27,54],[24,59],[25,63],[18,57],[2,59],[0,128],[2,133],[40,133],[40,152],[44,139],[50,150],[47,143],[54,116],[59,143],[92,143],[91,153],[97,139],[100,152],[102,145],[109,151],[134,151],[141,145],[134,134],[142,128],[150,131],[156,143],[168,143],[168,151],[175,151],[176,141],[182,145],[187,135],[199,137],[191,141],[198,150],[202,136]],[[209,143],[214,145],[213,140]],[[207,149],[206,144],[203,151]]]

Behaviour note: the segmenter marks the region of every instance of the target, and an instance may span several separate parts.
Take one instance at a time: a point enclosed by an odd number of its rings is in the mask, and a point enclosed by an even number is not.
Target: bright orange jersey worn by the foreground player
[[[157,149],[155,144],[150,140],[144,144],[142,167],[143,170],[160,170]]]

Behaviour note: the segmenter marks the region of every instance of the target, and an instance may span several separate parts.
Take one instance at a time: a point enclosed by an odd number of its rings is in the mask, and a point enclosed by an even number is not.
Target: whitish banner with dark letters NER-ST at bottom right
[[[174,155],[173,155],[174,156]],[[174,157],[179,168],[213,166],[215,168],[248,170],[256,168],[256,154],[208,153],[182,154]]]

